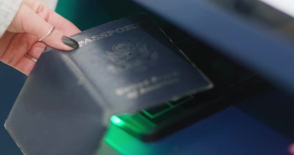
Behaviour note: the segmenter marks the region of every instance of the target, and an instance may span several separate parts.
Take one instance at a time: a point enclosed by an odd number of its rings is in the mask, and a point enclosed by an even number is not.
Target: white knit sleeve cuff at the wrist
[[[22,0],[0,0],[0,37],[14,18]]]

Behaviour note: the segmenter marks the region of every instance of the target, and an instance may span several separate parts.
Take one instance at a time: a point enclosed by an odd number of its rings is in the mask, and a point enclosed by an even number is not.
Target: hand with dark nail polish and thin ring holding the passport
[[[55,29],[42,42],[40,38]],[[78,47],[71,36],[80,30],[37,0],[23,0],[13,21],[0,38],[0,61],[29,75],[45,46],[69,51]]]

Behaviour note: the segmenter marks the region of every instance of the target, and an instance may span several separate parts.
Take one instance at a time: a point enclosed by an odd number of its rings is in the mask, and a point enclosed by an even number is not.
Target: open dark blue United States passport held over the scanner
[[[26,155],[90,155],[111,115],[213,86],[145,14],[72,38],[42,54],[5,122]]]

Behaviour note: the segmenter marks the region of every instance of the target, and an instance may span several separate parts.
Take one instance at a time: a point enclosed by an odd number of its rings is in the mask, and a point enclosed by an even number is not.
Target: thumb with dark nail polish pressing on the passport
[[[50,47],[64,51],[78,48],[79,44],[75,40],[65,36],[57,29],[52,30],[52,28],[53,25],[43,20],[27,5],[22,4],[7,31],[15,33],[27,32],[38,38],[43,38],[47,35],[42,42]],[[51,30],[52,32],[48,35]]]

